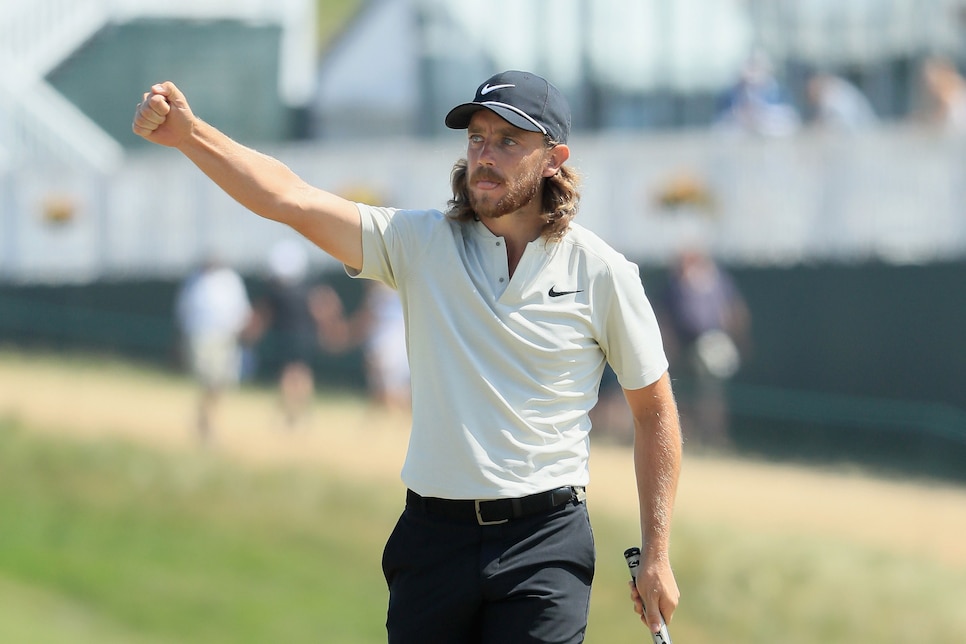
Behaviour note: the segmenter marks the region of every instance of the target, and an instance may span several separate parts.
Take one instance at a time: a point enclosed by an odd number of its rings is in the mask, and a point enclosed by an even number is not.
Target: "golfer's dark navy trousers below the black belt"
[[[484,526],[407,506],[383,553],[389,643],[583,642],[595,560],[582,502]]]

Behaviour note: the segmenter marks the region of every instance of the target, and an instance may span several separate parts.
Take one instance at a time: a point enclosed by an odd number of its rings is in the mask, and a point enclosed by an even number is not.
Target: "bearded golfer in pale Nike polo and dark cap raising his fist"
[[[571,223],[570,110],[546,80],[497,74],[446,124],[468,135],[446,214],[313,188],[195,117],[171,83],[145,94],[133,128],[350,275],[399,291],[413,424],[406,509],[383,555],[390,642],[583,640],[595,558],[588,412],[605,362],[635,419],[643,552],[632,598],[656,632],[678,602],[668,547],[681,438],[637,267]]]

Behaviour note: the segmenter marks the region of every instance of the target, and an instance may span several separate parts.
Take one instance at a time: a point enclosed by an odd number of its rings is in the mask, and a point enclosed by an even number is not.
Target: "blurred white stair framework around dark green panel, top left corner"
[[[138,17],[263,20],[283,26],[280,92],[291,102],[312,92],[312,0],[3,0],[0,3],[0,169],[56,163],[111,172],[122,146],[45,77],[98,31]]]

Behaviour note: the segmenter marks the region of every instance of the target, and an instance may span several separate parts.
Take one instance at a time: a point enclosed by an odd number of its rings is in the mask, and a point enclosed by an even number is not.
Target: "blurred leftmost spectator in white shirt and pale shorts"
[[[213,259],[190,275],[178,292],[175,316],[184,358],[201,385],[197,429],[202,441],[211,437],[220,394],[238,383],[239,338],[251,314],[242,278]]]

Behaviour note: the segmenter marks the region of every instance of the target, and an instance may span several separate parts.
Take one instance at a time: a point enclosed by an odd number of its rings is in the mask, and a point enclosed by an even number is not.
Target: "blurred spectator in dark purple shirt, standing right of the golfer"
[[[685,434],[699,446],[727,447],[724,382],[750,349],[750,314],[731,277],[704,252],[681,253],[668,275],[662,333],[680,378]]]

